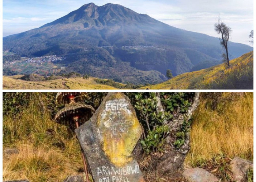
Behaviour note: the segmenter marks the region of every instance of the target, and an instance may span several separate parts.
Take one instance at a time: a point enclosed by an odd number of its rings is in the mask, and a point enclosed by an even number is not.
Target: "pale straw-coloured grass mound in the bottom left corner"
[[[76,174],[72,162],[56,149],[35,148],[31,144],[17,146],[19,154],[3,160],[3,179],[29,181],[64,180],[67,174]]]

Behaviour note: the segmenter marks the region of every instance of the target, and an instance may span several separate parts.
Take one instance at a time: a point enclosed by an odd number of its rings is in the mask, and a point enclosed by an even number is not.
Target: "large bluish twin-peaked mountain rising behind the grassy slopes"
[[[230,42],[230,59],[252,49]],[[42,27],[3,37],[6,50],[25,57],[62,55],[66,59],[56,64],[66,67],[66,72],[101,78],[117,79],[129,67],[132,72],[127,74],[135,75],[133,83],[138,79],[153,83],[152,77],[161,82],[167,69],[178,75],[214,66],[221,63],[223,52],[216,37],[175,28],[110,3],[85,4]],[[136,70],[151,72],[136,76]]]

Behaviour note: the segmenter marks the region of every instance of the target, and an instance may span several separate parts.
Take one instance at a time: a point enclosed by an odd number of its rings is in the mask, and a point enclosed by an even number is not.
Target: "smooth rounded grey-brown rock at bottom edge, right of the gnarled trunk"
[[[183,172],[183,176],[189,182],[217,182],[219,179],[215,175],[209,173],[207,170],[196,167],[187,169]]]

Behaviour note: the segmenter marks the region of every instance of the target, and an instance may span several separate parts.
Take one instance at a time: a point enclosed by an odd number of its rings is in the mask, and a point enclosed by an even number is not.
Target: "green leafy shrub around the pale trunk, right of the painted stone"
[[[162,151],[165,138],[169,133],[168,122],[172,122],[174,113],[185,113],[191,102],[191,93],[161,93],[160,99],[163,111],[157,110],[156,93],[129,93],[137,112],[138,119],[143,127],[143,139],[141,144],[146,154]],[[167,122],[167,123],[166,123]],[[184,122],[177,133],[175,144],[181,147],[185,142],[186,132],[190,126]]]

